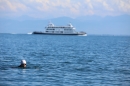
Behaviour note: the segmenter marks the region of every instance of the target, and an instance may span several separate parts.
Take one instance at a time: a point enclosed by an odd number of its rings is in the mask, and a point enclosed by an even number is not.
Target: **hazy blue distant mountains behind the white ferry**
[[[86,31],[88,34],[115,34],[130,35],[130,16],[83,16],[76,19],[59,17],[54,19],[35,19],[21,16],[14,19],[0,18],[0,33],[28,33],[43,31],[44,27],[52,22],[55,25],[67,25],[72,23],[78,31]]]

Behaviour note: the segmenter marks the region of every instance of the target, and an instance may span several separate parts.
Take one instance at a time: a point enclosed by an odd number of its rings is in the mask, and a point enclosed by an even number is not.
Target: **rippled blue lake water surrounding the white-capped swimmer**
[[[130,86],[130,37],[0,34],[0,86],[24,85]]]

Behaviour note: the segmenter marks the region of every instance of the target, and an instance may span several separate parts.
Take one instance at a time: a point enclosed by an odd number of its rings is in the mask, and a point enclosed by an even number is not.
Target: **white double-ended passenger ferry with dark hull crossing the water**
[[[77,32],[75,28],[69,23],[67,26],[55,26],[53,23],[49,23],[45,27],[44,32],[34,31],[32,34],[43,35],[87,35],[86,32]]]

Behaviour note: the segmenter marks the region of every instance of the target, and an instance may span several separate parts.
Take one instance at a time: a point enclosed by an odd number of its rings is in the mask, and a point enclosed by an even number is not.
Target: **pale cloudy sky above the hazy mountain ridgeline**
[[[0,17],[35,18],[130,15],[130,0],[0,0]]]

